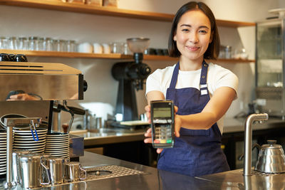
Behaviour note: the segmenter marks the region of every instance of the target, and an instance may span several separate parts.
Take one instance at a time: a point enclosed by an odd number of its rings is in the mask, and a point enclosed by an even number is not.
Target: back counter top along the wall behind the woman
[[[230,132],[243,132],[245,118],[224,119],[224,134]],[[268,130],[276,127],[285,127],[285,121],[276,118],[269,118],[264,124],[254,124],[253,130]],[[145,139],[144,133],[146,129],[128,130],[127,128],[105,128],[98,132],[78,132],[75,133],[80,137],[84,137],[85,146],[98,146],[101,144],[114,144],[120,142],[134,142]]]

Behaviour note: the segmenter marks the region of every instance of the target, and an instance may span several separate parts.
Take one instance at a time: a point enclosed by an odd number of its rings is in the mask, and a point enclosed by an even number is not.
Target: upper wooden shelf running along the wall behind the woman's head
[[[0,0],[0,5],[31,7],[36,9],[50,9],[57,11],[78,12],[83,14],[97,14],[104,16],[119,16],[131,19],[146,19],[151,21],[172,22],[173,14],[162,14],[147,11],[132,11],[108,6],[92,6],[79,3],[64,3],[61,0]],[[255,26],[255,23],[217,20],[218,26],[241,27]]]

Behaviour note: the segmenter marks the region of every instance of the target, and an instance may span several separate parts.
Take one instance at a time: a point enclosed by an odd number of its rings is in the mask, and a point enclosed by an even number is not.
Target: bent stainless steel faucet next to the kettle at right
[[[247,117],[244,126],[244,176],[252,175],[252,124],[254,121],[268,120],[268,114],[252,114]]]

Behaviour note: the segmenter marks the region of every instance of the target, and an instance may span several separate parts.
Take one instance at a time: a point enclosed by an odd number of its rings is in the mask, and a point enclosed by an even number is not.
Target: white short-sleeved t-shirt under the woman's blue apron
[[[176,65],[176,64],[175,64]],[[170,82],[175,65],[169,66],[164,69],[157,69],[148,76],[146,81],[145,94],[150,91],[157,90],[162,92],[166,97],[167,88],[170,87]],[[197,88],[199,90],[199,82],[201,76],[201,69],[192,71],[179,70],[177,83],[175,88]],[[212,97],[214,90],[220,87],[233,88],[237,93],[239,80],[237,75],[234,75],[230,70],[222,68],[214,63],[209,63],[207,72],[207,85],[209,96]],[[217,121],[219,131],[223,132],[224,116]]]

